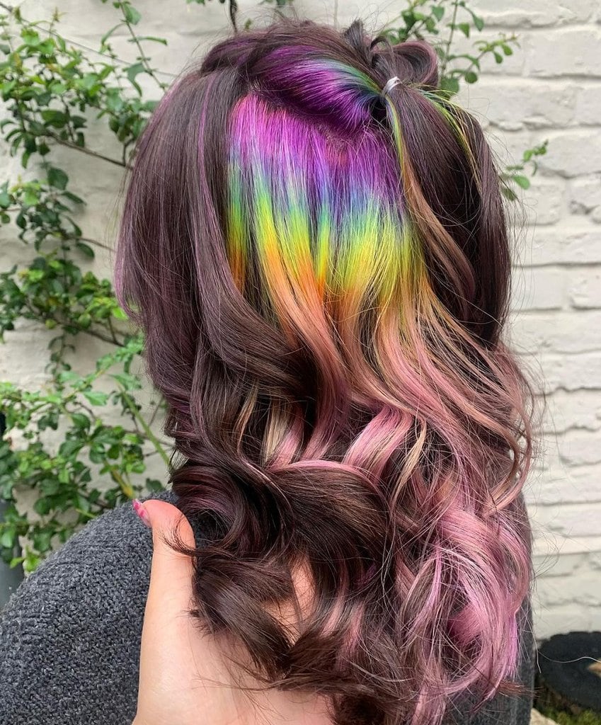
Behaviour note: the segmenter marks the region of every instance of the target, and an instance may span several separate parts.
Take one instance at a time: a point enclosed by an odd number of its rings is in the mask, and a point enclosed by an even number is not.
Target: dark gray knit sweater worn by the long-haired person
[[[171,492],[153,497],[176,502]],[[202,532],[193,524],[197,542]],[[0,725],[130,725],[152,557],[131,505],[87,524],[22,582],[0,613]],[[529,613],[521,679],[531,686]],[[529,697],[497,697],[449,722],[527,725]],[[212,725],[199,713],[198,725]]]

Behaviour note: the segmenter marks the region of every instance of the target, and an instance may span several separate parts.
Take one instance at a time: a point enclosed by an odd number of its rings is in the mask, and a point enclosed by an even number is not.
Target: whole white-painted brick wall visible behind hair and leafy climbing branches
[[[27,17],[49,17],[56,0],[26,0]],[[114,20],[111,4],[60,0],[62,32],[96,46]],[[167,72],[178,72],[196,50],[228,32],[226,9],[184,0],[136,0],[144,32],[166,37],[152,47]],[[255,0],[240,3],[244,17],[265,17]],[[339,2],[338,20],[363,17],[368,27],[397,16],[399,0]],[[296,0],[299,14],[332,20],[328,0]],[[514,278],[513,339],[547,392],[544,458],[528,486],[536,530],[536,628],[539,637],[570,628],[601,628],[601,9],[598,0],[472,0],[486,20],[482,36],[517,33],[521,48],[503,65],[489,62],[462,101],[486,126],[500,160],[545,138],[550,141],[523,204]],[[117,50],[133,57],[125,38]],[[102,134],[94,147],[111,151]],[[5,158],[5,152],[3,152]],[[112,242],[118,170],[94,159],[62,154],[83,196],[91,197],[86,232]],[[7,163],[12,175],[19,173]],[[518,215],[519,219],[519,215]],[[536,228],[533,224],[536,222]],[[4,235],[4,239],[6,234]],[[2,241],[3,267],[22,248]],[[108,273],[107,257],[96,268]],[[0,377],[24,384],[41,379],[47,334],[25,326],[0,349]],[[80,356],[87,364],[88,348]]]

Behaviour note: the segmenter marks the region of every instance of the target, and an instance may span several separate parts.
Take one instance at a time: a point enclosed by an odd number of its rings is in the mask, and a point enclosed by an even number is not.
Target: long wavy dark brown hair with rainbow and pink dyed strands
[[[212,524],[193,612],[339,725],[520,691],[534,409],[502,341],[500,183],[435,51],[359,21],[217,43],[138,144],[117,289],[178,505]]]

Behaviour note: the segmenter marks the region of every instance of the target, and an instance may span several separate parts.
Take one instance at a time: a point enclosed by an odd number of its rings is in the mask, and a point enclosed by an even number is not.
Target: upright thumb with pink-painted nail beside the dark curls
[[[192,597],[192,558],[173,550],[165,541],[178,534],[187,547],[196,548],[194,532],[183,513],[173,504],[157,499],[134,503],[136,513],[152,529],[152,566],[146,600],[146,616],[181,615]]]

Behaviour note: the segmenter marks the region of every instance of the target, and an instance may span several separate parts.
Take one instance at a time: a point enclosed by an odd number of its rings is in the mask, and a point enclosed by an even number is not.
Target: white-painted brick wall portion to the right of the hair
[[[549,139],[523,197],[513,339],[547,394],[544,455],[526,494],[539,637],[601,628],[601,12],[592,0],[476,0],[521,60],[462,94],[502,159]],[[502,9],[500,9],[502,8]],[[526,142],[524,144],[524,142]],[[534,226],[536,224],[536,226]]]

